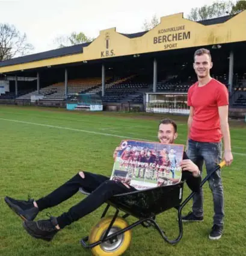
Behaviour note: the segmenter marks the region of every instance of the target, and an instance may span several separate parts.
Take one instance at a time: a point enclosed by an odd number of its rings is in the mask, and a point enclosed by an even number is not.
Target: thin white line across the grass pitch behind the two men
[[[32,123],[32,122],[25,122],[25,121],[6,119],[6,118],[0,118],[0,120],[5,120],[5,121],[9,121],[9,122],[16,122],[16,123],[26,123],[28,125],[39,125],[39,126],[45,126],[45,127],[51,127],[51,128],[57,128],[57,129],[69,130],[69,131],[79,131],[79,132],[82,132],[82,133],[93,133],[93,134],[99,134],[99,135],[104,135],[104,136],[112,136],[112,137],[123,138],[123,139],[143,140],[143,141],[146,141],[146,142],[153,142],[153,140],[145,140],[145,139],[140,139],[140,138],[132,138],[132,137],[128,137],[128,136],[120,136],[120,135],[111,134],[111,133],[98,133],[97,131],[80,130],[80,129],[69,128],[69,127],[64,127],[64,126],[45,125],[43,123]],[[246,154],[238,153],[238,152],[232,152],[232,154],[246,156]]]

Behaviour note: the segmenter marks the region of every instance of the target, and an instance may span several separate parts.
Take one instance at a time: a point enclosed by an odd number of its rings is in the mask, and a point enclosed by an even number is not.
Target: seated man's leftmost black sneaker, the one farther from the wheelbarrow
[[[34,199],[24,201],[5,196],[4,201],[23,220],[34,220],[38,214],[38,208],[33,205]]]

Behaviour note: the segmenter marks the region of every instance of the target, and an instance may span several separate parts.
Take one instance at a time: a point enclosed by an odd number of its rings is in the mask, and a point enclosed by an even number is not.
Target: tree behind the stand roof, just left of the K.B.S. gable
[[[85,36],[84,33],[72,32],[69,36],[60,36],[54,39],[54,43],[58,48],[63,48],[66,46],[79,45],[80,43],[92,42],[94,39]]]

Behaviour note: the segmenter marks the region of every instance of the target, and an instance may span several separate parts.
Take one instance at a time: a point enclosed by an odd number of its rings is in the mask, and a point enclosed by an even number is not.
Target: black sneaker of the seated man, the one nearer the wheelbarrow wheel
[[[32,237],[51,241],[58,232],[58,229],[55,228],[57,224],[57,218],[51,217],[48,220],[38,220],[37,222],[26,220],[23,222],[23,227]]]

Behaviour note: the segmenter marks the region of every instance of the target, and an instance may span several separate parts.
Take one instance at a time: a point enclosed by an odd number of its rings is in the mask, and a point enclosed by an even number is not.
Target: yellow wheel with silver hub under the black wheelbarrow
[[[95,243],[101,240],[108,229],[109,224],[112,221],[112,216],[103,217],[99,223],[97,223],[90,232],[88,237],[89,243]],[[120,231],[123,228],[128,226],[128,222],[121,217],[115,219],[114,224],[109,230],[108,236],[111,234]],[[116,238],[116,239],[115,239]],[[91,252],[94,256],[120,256],[126,249],[128,249],[131,240],[132,240],[132,231],[128,230],[123,234],[118,235],[114,238],[113,242],[107,240],[106,242],[101,243],[100,245],[94,246],[91,249]]]

